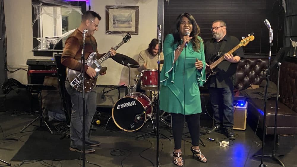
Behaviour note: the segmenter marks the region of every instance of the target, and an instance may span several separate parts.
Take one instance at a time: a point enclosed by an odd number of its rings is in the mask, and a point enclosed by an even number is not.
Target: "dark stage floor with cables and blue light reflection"
[[[119,131],[113,120],[106,124],[110,113],[103,113],[98,117],[102,121],[102,125],[94,125],[96,130],[91,131],[91,139],[101,142],[101,146],[94,147],[96,151],[86,154],[86,160],[97,166],[156,166],[156,136],[154,133],[144,137],[137,138],[137,135],[144,134],[152,130],[151,122],[143,125],[138,132]],[[19,131],[30,123],[36,116],[28,113],[0,112],[0,138],[5,136],[9,138],[18,138],[18,141],[0,140],[0,159],[10,162],[12,166],[36,167],[36,166],[80,166],[81,155],[75,154],[69,150],[69,139],[60,139],[64,135],[64,129],[59,123],[54,123],[58,130],[55,134],[50,134],[47,128],[36,128],[29,126],[23,133]],[[34,124],[38,125],[38,121]],[[208,116],[201,117],[201,130],[203,127],[210,127],[212,120]],[[51,123],[52,129],[53,123]],[[160,132],[165,136],[170,136],[170,128],[164,123],[160,123]],[[187,132],[187,128],[186,131]],[[203,132],[203,131],[202,131]],[[11,135],[10,135],[11,134]],[[260,158],[253,158],[252,155],[260,153],[261,140],[254,135],[254,131],[247,125],[246,131],[236,131],[238,137],[234,140],[234,144],[228,147],[220,147],[216,142],[206,140],[211,137],[215,140],[225,137],[221,133],[202,135],[201,139],[206,147],[200,145],[202,153],[208,159],[207,163],[200,163],[192,158],[189,143],[191,139],[184,136],[186,142],[182,143],[184,166],[220,166],[220,167],[241,167],[241,166],[259,166]],[[9,135],[9,136],[8,136]],[[272,137],[267,137],[265,152],[271,153]],[[169,167],[173,164],[172,150],[174,146],[173,139],[161,138],[159,144],[159,166]],[[184,149],[185,148],[185,149]],[[162,150],[162,151],[161,151]],[[297,166],[297,149],[293,144],[286,146],[278,146],[278,154],[287,167]],[[18,161],[12,161],[18,160]],[[25,160],[25,162],[23,162]],[[26,161],[30,160],[30,161]],[[36,161],[39,160],[39,161]],[[50,161],[53,160],[53,161]],[[151,161],[151,162],[150,162]],[[264,158],[264,164],[268,167],[279,167],[280,165],[270,158]],[[0,162],[0,166],[6,166]],[[86,162],[86,166],[96,166]]]

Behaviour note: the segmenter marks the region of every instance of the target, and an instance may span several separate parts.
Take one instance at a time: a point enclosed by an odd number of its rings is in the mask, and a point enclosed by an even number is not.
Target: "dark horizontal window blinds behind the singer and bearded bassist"
[[[285,14],[281,0],[170,0],[164,4],[164,35],[172,33],[176,17],[183,12],[194,16],[204,41],[212,38],[212,22],[224,20],[227,33],[239,39],[254,32],[255,40],[244,47],[245,54],[268,54],[269,31],[263,23],[268,19],[274,33],[272,54],[283,45]]]

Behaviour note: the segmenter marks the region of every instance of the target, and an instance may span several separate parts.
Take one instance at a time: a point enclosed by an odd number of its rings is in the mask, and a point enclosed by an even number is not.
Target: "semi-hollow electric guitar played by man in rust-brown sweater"
[[[126,36],[124,36],[123,40],[119,44],[117,44],[115,47],[113,47],[113,49],[117,50],[119,47],[122,46],[122,44],[128,42],[129,39],[131,39],[131,35],[128,33]],[[67,79],[68,79],[70,85],[74,89],[82,92],[83,91],[83,81],[84,81],[85,82],[85,92],[89,92],[89,91],[93,90],[96,86],[97,77],[99,75],[106,74],[107,68],[102,67],[101,64],[103,63],[103,61],[107,60],[110,57],[111,57],[110,52],[108,52],[105,55],[103,55],[101,58],[96,59],[97,53],[92,52],[89,55],[88,59],[85,60],[86,65],[92,67],[96,71],[96,76],[93,77],[93,79],[88,74],[85,74],[85,79],[83,79],[82,71],[77,71],[77,70],[67,68],[66,76],[67,76]],[[77,60],[77,61],[82,63],[81,60]]]

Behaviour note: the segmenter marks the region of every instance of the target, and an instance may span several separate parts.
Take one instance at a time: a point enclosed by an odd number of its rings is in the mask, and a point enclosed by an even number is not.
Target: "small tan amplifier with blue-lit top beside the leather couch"
[[[244,106],[233,106],[234,107],[234,125],[233,129],[245,131],[247,125],[247,101]]]

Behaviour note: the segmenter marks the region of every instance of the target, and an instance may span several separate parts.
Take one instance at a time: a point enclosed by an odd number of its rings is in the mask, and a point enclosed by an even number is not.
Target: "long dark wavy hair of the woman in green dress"
[[[176,18],[175,24],[174,24],[174,32],[173,32],[173,37],[174,37],[174,44],[178,43],[181,44],[181,37],[179,35],[179,26],[181,24],[182,18],[183,17],[187,17],[190,22],[192,23],[193,29],[192,32],[190,34],[190,36],[192,36],[193,38],[191,39],[192,44],[193,44],[193,49],[196,52],[199,52],[200,50],[200,43],[203,41],[200,41],[200,39],[198,39],[198,35],[200,34],[200,27],[198,26],[198,24],[196,23],[194,17],[189,14],[189,13],[182,13],[180,15],[178,15],[178,17]]]

